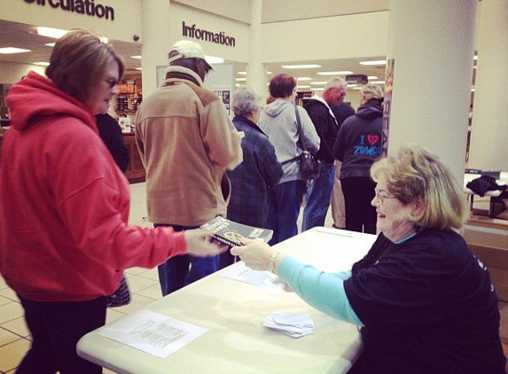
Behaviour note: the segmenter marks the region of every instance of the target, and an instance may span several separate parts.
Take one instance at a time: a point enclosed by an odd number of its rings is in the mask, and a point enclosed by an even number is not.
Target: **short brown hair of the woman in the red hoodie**
[[[93,95],[112,58],[118,63],[121,79],[125,66],[112,45],[98,35],[74,28],[55,43],[46,75],[60,90],[84,102]]]

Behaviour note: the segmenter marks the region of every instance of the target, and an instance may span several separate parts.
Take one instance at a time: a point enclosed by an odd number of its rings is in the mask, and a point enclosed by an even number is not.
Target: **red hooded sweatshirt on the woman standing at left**
[[[82,102],[31,72],[7,96],[0,165],[0,272],[20,297],[92,300],[123,269],[185,253],[182,233],[127,224],[129,183]]]

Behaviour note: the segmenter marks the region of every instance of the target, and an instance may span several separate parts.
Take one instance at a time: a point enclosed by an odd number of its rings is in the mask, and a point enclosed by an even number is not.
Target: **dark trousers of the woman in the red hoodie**
[[[102,373],[100,366],[77,355],[76,344],[106,323],[106,297],[76,302],[20,300],[33,342],[16,374]]]

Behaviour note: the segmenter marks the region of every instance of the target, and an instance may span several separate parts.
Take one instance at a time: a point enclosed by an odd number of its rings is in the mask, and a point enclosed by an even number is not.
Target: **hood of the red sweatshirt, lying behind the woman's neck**
[[[63,114],[80,119],[98,132],[95,118],[86,105],[35,72],[12,85],[6,101],[14,129],[24,130],[35,125],[33,120],[38,116]]]

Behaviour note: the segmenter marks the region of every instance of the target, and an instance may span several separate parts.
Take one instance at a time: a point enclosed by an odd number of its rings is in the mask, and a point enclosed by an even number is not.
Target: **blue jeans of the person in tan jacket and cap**
[[[171,226],[175,231],[196,229],[196,226],[179,226],[154,223],[153,227]],[[173,256],[157,267],[162,296],[179,290],[187,284],[215,273],[219,269],[219,256],[196,257],[191,254]]]

